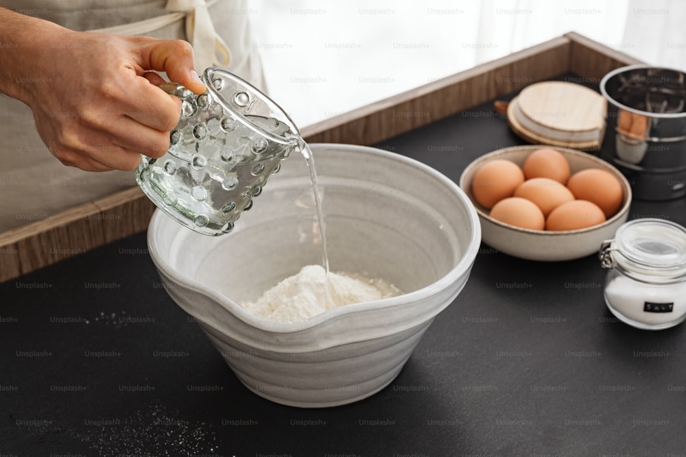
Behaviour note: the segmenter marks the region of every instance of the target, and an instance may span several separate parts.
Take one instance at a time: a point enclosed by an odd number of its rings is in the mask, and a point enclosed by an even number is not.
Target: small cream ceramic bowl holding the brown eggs
[[[609,171],[615,175],[622,184],[622,190],[624,191],[624,200],[617,214],[602,224],[580,230],[567,230],[565,232],[547,232],[545,230],[515,227],[514,225],[496,221],[488,216],[488,209],[477,203],[471,191],[471,182],[477,170],[486,162],[496,159],[512,160],[512,162],[521,166],[530,153],[543,147],[555,149],[563,153],[567,162],[569,162],[572,174],[582,169],[596,168]],[[513,146],[487,153],[471,162],[464,169],[460,176],[460,187],[469,196],[470,201],[479,214],[484,243],[505,254],[510,254],[510,256],[528,260],[572,260],[591,254],[598,254],[602,242],[614,238],[619,225],[626,222],[631,204],[631,187],[629,182],[614,166],[600,158],[591,156],[589,153],[554,146]]]

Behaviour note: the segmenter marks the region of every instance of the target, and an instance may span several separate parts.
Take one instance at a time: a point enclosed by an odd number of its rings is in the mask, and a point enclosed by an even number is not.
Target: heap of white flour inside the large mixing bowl
[[[381,279],[331,271],[327,275],[320,265],[308,265],[270,288],[257,301],[241,306],[263,319],[295,322],[338,306],[401,294],[399,288]]]

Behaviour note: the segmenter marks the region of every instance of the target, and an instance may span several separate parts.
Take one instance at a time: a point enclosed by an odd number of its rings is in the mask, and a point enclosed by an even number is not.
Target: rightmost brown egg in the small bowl
[[[593,201],[600,206],[607,218],[619,210],[624,199],[622,184],[617,177],[601,169],[577,171],[569,178],[567,188],[577,199]]]

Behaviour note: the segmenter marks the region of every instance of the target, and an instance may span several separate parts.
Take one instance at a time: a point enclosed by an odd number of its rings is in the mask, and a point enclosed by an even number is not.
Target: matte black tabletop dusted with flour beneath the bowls
[[[457,182],[519,144],[484,103],[379,147]],[[646,216],[686,224],[686,199]],[[686,328],[617,321],[605,274],[484,244],[392,384],[300,409],[237,380],[131,236],[0,284],[0,456],[684,456]]]

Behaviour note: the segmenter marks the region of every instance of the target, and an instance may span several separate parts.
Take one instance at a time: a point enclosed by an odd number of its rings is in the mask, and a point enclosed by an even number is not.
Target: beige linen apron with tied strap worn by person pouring
[[[74,30],[188,40],[196,69],[223,66],[265,90],[246,0],[3,0]],[[0,232],[135,186],[132,171],[64,166],[40,140],[31,110],[0,95]]]

